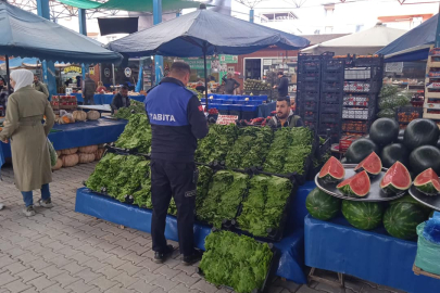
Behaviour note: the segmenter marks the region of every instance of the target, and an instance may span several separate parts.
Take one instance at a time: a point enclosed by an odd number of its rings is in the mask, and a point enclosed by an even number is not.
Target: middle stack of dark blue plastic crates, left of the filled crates
[[[344,60],[324,58],[322,61],[318,133],[329,135],[332,143],[341,136],[344,67]]]

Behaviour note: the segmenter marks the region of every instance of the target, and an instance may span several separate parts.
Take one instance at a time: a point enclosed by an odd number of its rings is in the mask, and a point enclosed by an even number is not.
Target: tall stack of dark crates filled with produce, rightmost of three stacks
[[[377,118],[382,86],[382,56],[348,56],[343,86],[342,135],[364,136]]]

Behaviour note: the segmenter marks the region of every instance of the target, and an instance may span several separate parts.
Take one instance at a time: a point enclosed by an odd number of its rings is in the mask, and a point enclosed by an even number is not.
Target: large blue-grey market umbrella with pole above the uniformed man
[[[210,11],[202,4],[196,12],[112,41],[108,48],[126,56],[204,56],[206,77],[206,55],[248,54],[273,44],[299,50],[309,43],[305,38]],[[205,84],[208,88],[206,78]]]

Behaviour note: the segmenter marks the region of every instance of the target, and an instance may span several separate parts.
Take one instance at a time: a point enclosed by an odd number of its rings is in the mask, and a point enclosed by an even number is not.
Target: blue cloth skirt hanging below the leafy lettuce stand
[[[305,283],[304,275],[304,216],[305,198],[315,187],[313,182],[302,186],[291,202],[290,214],[285,230],[285,238],[275,243],[281,252],[277,276],[297,283]],[[90,215],[118,225],[151,233],[152,212],[134,205],[123,204],[111,198],[103,196],[87,188],[79,188],[76,192],[75,212]],[[211,228],[196,224],[196,246],[204,250],[204,239],[211,232]],[[177,220],[173,216],[166,218],[166,239],[178,241]]]

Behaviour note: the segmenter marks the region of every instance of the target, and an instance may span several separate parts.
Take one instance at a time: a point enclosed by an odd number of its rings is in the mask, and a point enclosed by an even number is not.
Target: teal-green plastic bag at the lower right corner
[[[415,265],[424,271],[440,275],[440,244],[429,242],[424,237],[425,222],[417,226],[417,255]]]

